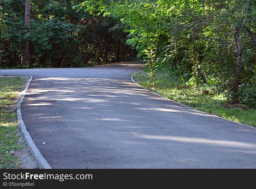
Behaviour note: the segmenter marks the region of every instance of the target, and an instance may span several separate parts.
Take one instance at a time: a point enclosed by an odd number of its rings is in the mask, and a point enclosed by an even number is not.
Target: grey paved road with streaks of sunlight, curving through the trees
[[[119,63],[0,74],[33,75],[22,116],[52,168],[256,167],[256,129],[141,89],[130,76],[142,67]]]

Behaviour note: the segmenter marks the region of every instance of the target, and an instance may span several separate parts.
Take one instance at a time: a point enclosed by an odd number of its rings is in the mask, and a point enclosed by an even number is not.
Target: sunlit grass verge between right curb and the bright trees
[[[141,86],[150,88],[150,78],[146,69],[136,74],[134,80]],[[202,94],[202,89],[182,86],[181,82],[161,71],[156,73],[155,80],[160,82],[156,83],[154,91],[162,96],[206,113],[256,127],[256,109],[226,108],[223,106],[227,104],[224,94],[213,92]]]

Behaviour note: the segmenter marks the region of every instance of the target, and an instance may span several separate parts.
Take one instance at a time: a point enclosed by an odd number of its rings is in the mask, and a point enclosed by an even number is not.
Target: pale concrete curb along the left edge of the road
[[[32,156],[35,158],[35,161],[38,163],[38,166],[40,169],[51,169],[51,166],[48,164],[48,162],[45,160],[45,158],[42,156],[38,148],[35,146],[35,142],[31,138],[29,132],[27,131],[26,125],[23,122],[22,114],[21,114],[21,103],[25,97],[25,94],[29,88],[29,84],[33,78],[33,76],[29,75],[18,75],[18,74],[0,74],[0,75],[6,75],[6,76],[28,76],[30,77],[29,81],[26,83],[25,89],[22,91],[22,96],[17,104],[17,120],[19,124],[20,131],[26,141],[26,144],[28,146],[28,149]]]

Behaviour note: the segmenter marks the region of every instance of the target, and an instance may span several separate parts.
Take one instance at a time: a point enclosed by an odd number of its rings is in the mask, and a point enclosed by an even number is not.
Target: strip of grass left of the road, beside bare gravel
[[[18,144],[19,131],[15,105],[25,78],[0,78],[0,168],[18,168],[19,161],[10,151],[21,148]]]

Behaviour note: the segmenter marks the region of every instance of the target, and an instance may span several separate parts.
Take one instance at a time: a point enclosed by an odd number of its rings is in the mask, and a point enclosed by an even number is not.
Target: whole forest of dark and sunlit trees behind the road
[[[254,0],[0,2],[1,69],[141,59],[151,87],[161,69],[256,107]]]

